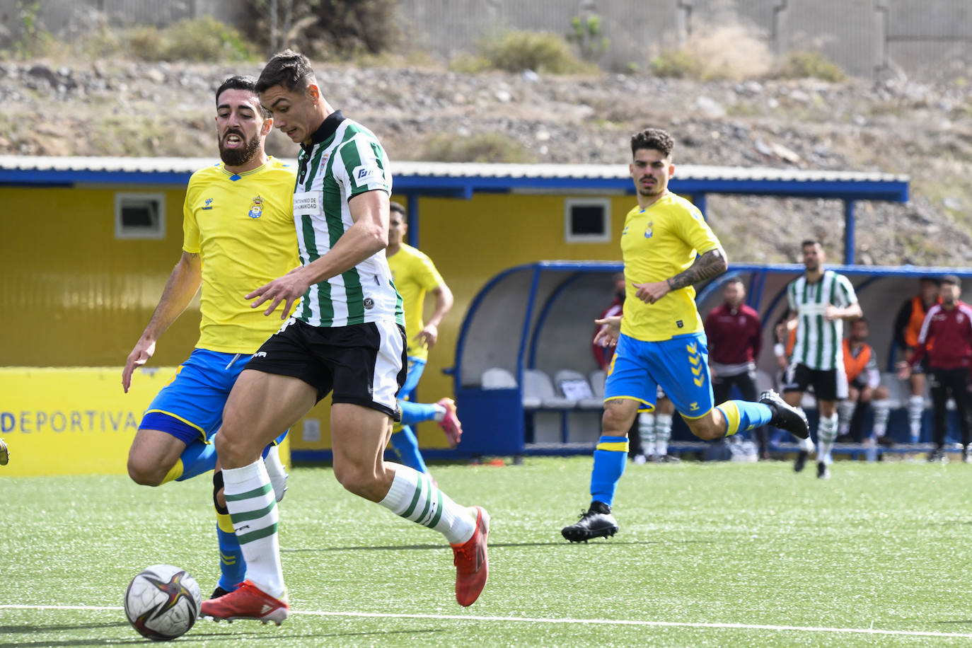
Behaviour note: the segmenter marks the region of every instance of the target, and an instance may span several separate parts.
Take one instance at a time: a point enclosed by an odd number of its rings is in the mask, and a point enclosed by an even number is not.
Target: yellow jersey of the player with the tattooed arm
[[[672,290],[653,304],[635,296],[634,284],[676,276],[703,255],[720,247],[702,212],[688,200],[666,193],[645,209],[635,207],[624,219],[621,256],[625,299],[621,332],[643,342],[668,340],[703,330],[695,289]]]

